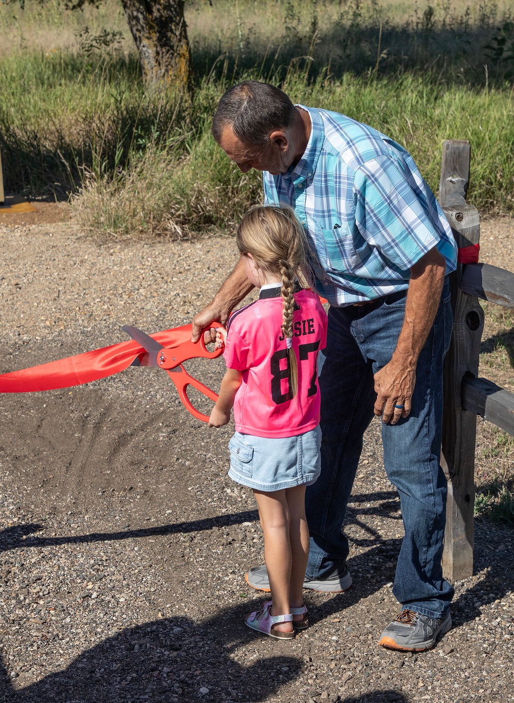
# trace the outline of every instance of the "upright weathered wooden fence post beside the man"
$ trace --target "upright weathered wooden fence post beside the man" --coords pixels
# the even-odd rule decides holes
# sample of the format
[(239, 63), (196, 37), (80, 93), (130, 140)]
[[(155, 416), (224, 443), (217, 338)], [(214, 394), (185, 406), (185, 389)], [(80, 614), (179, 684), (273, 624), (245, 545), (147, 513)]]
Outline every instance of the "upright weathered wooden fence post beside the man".
[[(466, 204), (469, 183), (468, 141), (446, 140), (442, 152), (439, 199), (459, 249), (478, 244), (480, 216)], [(444, 415), (441, 465), (448, 479), (447, 524), (442, 567), (452, 580), (473, 574), (473, 509), (475, 505), (475, 439), (477, 416), (463, 410), (461, 384), (478, 374), (484, 314), (477, 297), (462, 292), (462, 264), (451, 274), (454, 328), (444, 362)]]

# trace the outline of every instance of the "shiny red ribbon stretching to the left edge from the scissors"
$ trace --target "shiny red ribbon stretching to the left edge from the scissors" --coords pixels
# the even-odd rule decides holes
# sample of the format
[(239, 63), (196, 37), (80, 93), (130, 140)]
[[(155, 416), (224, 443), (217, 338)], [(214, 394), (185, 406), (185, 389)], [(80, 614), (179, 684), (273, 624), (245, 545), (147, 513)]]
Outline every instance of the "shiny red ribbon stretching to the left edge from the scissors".
[[(152, 337), (163, 347), (175, 347), (191, 339), (191, 325), (164, 330)], [(0, 393), (27, 393), (79, 386), (129, 368), (140, 354), (145, 354), (145, 349), (131, 340), (95, 349), (93, 352), (68, 356), (67, 359), (4, 373), (0, 375)]]

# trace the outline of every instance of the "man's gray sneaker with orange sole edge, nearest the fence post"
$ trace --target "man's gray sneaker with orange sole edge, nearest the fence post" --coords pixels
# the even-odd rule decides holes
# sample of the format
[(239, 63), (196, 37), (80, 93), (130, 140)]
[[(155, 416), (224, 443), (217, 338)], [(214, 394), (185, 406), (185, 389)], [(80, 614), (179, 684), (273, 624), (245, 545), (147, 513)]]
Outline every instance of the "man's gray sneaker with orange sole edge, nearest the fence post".
[(438, 639), (452, 627), (452, 617), (429, 617), (414, 610), (402, 610), (383, 631), (379, 645), (404, 652), (431, 650)]

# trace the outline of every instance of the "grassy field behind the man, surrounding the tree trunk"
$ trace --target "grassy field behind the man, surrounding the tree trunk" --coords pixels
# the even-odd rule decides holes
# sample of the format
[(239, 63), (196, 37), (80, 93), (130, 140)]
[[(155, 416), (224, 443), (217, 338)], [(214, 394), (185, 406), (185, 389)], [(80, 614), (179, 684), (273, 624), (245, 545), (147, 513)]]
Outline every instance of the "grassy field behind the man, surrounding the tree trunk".
[(231, 228), (261, 198), (260, 176), (228, 162), (210, 124), (226, 87), (252, 77), (385, 132), (407, 146), (434, 190), (444, 138), (469, 139), (470, 201), (482, 211), (514, 212), (508, 9), (486, 0), (384, 5), (190, 3), (192, 99), (145, 94), (114, 0), (86, 15), (59, 11), (57, 0), (44, 10), (35, 0), (25, 11), (2, 5), (6, 188), (71, 193), (84, 224), (117, 237)]

